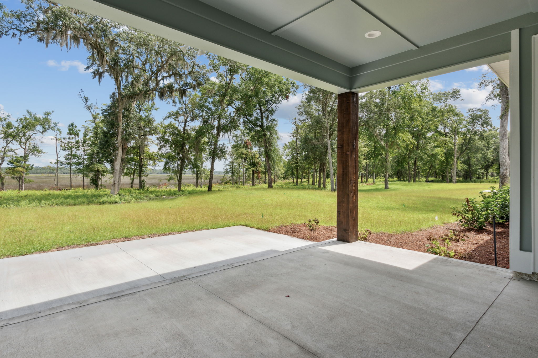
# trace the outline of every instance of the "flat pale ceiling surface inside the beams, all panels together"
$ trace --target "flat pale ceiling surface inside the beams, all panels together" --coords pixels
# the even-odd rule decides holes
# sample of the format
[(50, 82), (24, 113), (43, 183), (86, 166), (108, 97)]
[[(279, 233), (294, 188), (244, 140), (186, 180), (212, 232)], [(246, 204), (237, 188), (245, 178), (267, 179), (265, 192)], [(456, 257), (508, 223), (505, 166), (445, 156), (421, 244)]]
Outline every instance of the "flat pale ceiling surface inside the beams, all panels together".
[[(535, 0), (201, 1), (268, 32), (276, 31), (275, 35), (348, 67), (534, 12), (538, 8)], [(285, 25), (288, 26), (284, 30), (279, 30)], [(364, 34), (371, 30), (382, 34), (376, 39), (366, 39)]]

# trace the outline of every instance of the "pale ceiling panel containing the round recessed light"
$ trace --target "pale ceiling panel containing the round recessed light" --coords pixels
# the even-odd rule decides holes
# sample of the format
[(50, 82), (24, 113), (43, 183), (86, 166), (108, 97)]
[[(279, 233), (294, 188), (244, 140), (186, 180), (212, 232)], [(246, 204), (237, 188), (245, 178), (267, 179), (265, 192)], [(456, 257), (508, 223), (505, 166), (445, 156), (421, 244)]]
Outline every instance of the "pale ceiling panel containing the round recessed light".
[[(381, 35), (365, 38), (372, 30)], [(335, 0), (278, 35), (350, 67), (414, 48), (350, 0)]]

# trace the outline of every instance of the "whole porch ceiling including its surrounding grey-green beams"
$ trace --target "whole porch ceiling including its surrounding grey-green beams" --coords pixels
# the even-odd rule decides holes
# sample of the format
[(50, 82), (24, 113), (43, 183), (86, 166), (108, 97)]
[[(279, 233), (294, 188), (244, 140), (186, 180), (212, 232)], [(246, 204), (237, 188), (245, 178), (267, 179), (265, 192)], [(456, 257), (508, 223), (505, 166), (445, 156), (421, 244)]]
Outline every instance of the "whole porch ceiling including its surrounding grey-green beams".
[(511, 31), (538, 24), (538, 0), (61, 3), (339, 93), (507, 60)]

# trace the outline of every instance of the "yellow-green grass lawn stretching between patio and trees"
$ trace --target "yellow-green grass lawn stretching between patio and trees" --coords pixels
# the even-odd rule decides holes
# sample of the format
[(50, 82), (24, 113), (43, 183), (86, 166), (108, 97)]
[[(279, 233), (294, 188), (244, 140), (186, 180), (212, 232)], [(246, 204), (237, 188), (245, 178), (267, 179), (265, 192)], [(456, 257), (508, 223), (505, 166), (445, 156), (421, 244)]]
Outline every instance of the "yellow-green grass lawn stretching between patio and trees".
[[(455, 221), (450, 207), (484, 189), (423, 182), (391, 182), (388, 190), (383, 184), (360, 186), (359, 227), (401, 232)], [(313, 217), (321, 225), (336, 224), (336, 193), (281, 184), (111, 205), (0, 208), (0, 257), (151, 233), (232, 225), (269, 229)]]

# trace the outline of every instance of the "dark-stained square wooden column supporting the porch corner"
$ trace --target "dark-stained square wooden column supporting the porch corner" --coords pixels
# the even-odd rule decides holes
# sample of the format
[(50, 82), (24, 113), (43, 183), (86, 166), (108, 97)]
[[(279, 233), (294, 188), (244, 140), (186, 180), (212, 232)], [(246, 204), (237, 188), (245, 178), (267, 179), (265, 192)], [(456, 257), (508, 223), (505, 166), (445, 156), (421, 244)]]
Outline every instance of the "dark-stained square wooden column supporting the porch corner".
[(358, 236), (358, 94), (338, 94), (336, 238), (352, 243)]

